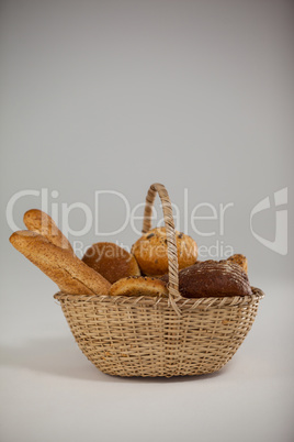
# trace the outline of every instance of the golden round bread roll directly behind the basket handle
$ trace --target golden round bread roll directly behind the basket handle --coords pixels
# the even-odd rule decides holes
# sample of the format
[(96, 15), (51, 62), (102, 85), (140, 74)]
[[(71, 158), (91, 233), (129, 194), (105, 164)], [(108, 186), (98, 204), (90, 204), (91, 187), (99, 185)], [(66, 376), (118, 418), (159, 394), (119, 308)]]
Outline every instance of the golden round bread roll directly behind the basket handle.
[[(179, 269), (197, 259), (197, 244), (184, 233), (176, 231)], [(145, 233), (132, 247), (139, 268), (147, 276), (162, 276), (168, 273), (168, 245), (166, 228), (156, 228)]]

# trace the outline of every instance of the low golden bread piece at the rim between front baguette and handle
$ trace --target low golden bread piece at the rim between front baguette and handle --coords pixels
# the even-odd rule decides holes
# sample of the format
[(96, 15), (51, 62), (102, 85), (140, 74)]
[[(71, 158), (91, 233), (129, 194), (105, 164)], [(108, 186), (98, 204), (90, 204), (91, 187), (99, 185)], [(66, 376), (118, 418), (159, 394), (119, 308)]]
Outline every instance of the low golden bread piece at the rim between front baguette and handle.
[(168, 296), (166, 284), (149, 276), (129, 276), (111, 286), (112, 296)]

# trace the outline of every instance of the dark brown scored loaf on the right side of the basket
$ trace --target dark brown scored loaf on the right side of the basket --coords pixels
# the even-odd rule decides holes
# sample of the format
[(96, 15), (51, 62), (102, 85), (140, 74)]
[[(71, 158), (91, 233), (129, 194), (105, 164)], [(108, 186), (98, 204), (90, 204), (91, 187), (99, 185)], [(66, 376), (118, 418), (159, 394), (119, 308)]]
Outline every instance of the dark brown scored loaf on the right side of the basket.
[[(168, 275), (161, 280), (168, 283)], [(179, 273), (179, 290), (184, 298), (252, 295), (244, 269), (227, 261), (204, 261)]]

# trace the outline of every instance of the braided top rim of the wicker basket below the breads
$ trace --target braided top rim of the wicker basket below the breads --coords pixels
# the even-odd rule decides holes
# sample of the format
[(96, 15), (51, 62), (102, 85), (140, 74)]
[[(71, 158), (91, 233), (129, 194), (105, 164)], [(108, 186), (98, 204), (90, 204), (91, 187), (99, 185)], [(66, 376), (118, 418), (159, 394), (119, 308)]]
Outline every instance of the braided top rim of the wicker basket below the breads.
[[(259, 301), (264, 298), (264, 292), (257, 287), (251, 287), (252, 295), (246, 296), (226, 296), (226, 297), (203, 297), (203, 298), (181, 298), (177, 301), (177, 306), (181, 308), (188, 308), (193, 310), (196, 308), (216, 308), (216, 307), (234, 307), (249, 305)], [(109, 305), (139, 305), (143, 307), (154, 306), (170, 306), (169, 298), (158, 296), (111, 296), (111, 295), (70, 295), (58, 291), (54, 295), (54, 298), (63, 302), (94, 302), (94, 303), (109, 303)]]

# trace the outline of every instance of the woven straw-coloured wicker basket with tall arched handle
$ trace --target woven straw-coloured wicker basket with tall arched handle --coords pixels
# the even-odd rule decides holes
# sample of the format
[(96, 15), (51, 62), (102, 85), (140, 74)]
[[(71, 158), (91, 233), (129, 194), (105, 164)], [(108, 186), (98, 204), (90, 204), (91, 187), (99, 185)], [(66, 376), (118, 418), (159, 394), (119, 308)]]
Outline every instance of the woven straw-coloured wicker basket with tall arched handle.
[(260, 289), (252, 296), (182, 298), (172, 209), (162, 185), (150, 187), (143, 232), (150, 230), (156, 194), (168, 240), (169, 298), (58, 292), (82, 353), (101, 372), (118, 376), (184, 376), (214, 373), (236, 353), (255, 321)]

